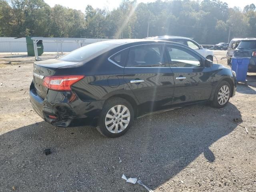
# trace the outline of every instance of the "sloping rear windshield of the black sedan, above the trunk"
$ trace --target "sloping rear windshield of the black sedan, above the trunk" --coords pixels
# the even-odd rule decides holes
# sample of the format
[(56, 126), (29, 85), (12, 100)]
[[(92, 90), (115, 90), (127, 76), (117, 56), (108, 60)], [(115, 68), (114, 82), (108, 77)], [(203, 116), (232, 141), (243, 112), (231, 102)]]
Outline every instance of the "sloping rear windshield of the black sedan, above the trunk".
[(95, 56), (98, 56), (101, 53), (109, 50), (111, 46), (113, 45), (109, 43), (104, 43), (104, 42), (92, 43), (92, 44), (83, 46), (79, 49), (76, 49), (58, 58), (58, 60), (69, 61), (69, 62), (80, 62), (80, 61), (88, 60), (90, 58), (94, 58)]

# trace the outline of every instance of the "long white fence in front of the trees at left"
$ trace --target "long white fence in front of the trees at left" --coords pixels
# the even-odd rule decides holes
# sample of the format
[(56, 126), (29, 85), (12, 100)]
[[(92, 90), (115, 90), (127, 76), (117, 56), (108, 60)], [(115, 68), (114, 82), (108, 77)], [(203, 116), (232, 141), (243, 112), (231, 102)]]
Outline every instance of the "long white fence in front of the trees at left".
[[(101, 38), (87, 38), (82, 46), (112, 39)], [(57, 52), (57, 44), (52, 41), (43, 41), (44, 52)], [(70, 52), (78, 48), (78, 44), (74, 41), (65, 40), (62, 43), (63, 52)], [(58, 44), (58, 50), (60, 51), (60, 43)], [(15, 39), (13, 37), (0, 37), (0, 52), (27, 52), (26, 38)]]

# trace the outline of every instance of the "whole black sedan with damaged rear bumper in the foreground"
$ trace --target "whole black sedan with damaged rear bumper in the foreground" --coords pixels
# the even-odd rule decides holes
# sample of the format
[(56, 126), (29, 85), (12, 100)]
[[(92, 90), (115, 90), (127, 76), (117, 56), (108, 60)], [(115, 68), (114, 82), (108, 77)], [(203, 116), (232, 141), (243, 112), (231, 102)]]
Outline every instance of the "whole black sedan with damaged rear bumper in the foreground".
[(198, 102), (221, 108), (235, 92), (234, 72), (188, 46), (131, 39), (35, 62), (30, 101), (55, 126), (82, 120), (114, 138), (126, 133), (134, 118)]

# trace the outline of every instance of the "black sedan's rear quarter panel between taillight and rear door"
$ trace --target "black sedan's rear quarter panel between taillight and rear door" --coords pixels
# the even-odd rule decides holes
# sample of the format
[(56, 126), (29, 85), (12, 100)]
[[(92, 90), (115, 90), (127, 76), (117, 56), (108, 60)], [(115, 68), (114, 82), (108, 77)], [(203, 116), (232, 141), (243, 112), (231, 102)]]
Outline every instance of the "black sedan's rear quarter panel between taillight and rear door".
[[(81, 68), (86, 77), (72, 86), (81, 100), (106, 100), (117, 94), (126, 94), (134, 98), (124, 81), (124, 68), (108, 61), (108, 57), (114, 53), (115, 50), (102, 54)], [(137, 103), (136, 98), (134, 100)]]

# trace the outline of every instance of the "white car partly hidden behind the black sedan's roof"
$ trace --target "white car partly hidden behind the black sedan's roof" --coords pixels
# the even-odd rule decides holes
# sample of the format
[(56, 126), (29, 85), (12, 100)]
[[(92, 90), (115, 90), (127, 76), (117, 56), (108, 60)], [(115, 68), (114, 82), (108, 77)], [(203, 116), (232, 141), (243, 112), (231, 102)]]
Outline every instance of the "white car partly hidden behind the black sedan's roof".
[(211, 50), (203, 48), (200, 44), (198, 44), (194, 40), (187, 38), (187, 37), (165, 35), (165, 36), (147, 37), (145, 39), (166, 40), (166, 41), (172, 41), (172, 42), (184, 44), (184, 45), (194, 49), (196, 52), (198, 52), (199, 54), (204, 56), (206, 59), (213, 61), (214, 54)]

